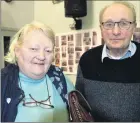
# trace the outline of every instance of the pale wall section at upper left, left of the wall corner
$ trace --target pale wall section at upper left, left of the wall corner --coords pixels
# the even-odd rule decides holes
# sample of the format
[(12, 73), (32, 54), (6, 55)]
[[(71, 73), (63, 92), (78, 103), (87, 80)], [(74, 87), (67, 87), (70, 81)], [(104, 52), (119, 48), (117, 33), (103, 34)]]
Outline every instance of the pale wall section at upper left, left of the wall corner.
[(21, 28), (34, 20), (34, 1), (1, 2), (2, 27)]

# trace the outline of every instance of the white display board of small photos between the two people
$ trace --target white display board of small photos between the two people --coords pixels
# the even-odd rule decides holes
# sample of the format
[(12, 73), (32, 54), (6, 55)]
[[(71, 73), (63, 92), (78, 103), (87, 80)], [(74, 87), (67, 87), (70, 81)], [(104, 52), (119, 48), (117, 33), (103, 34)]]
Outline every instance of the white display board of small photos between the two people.
[(54, 64), (65, 74), (76, 74), (82, 54), (101, 44), (100, 32), (95, 29), (56, 34)]

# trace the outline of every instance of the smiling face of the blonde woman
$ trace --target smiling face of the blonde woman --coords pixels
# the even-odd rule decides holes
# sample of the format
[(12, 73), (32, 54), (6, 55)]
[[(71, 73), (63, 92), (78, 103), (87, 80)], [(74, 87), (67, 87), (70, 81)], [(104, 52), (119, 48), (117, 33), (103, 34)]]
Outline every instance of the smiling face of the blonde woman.
[(33, 79), (44, 77), (53, 61), (53, 47), (52, 41), (43, 32), (29, 32), (23, 45), (15, 49), (20, 71)]

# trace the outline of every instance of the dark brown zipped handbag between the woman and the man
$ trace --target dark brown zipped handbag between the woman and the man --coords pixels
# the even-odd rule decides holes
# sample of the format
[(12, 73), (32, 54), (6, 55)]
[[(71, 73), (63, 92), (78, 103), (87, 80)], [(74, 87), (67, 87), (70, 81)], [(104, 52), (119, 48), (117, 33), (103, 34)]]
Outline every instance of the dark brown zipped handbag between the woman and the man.
[(91, 108), (84, 96), (77, 90), (68, 95), (71, 122), (93, 122)]

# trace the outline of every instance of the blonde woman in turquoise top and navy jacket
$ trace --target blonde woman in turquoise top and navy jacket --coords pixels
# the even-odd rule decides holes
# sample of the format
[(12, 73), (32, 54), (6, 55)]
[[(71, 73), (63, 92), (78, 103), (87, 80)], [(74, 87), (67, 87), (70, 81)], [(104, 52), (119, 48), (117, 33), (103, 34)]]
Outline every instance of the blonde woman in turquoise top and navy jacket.
[(1, 71), (3, 122), (65, 122), (67, 94), (74, 86), (52, 65), (55, 36), (46, 25), (33, 22), (13, 37)]

